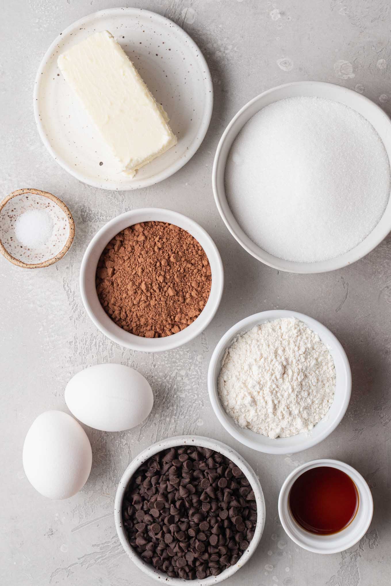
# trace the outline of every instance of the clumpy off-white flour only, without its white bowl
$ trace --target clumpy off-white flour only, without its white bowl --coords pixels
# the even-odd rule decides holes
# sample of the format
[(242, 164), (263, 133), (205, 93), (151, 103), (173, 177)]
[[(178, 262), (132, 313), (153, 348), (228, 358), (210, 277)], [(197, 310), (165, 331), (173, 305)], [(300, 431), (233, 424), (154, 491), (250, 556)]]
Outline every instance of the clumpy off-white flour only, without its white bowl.
[(310, 431), (331, 407), (334, 361), (305, 323), (276, 319), (255, 326), (226, 350), (217, 389), (240, 427), (289, 437)]

